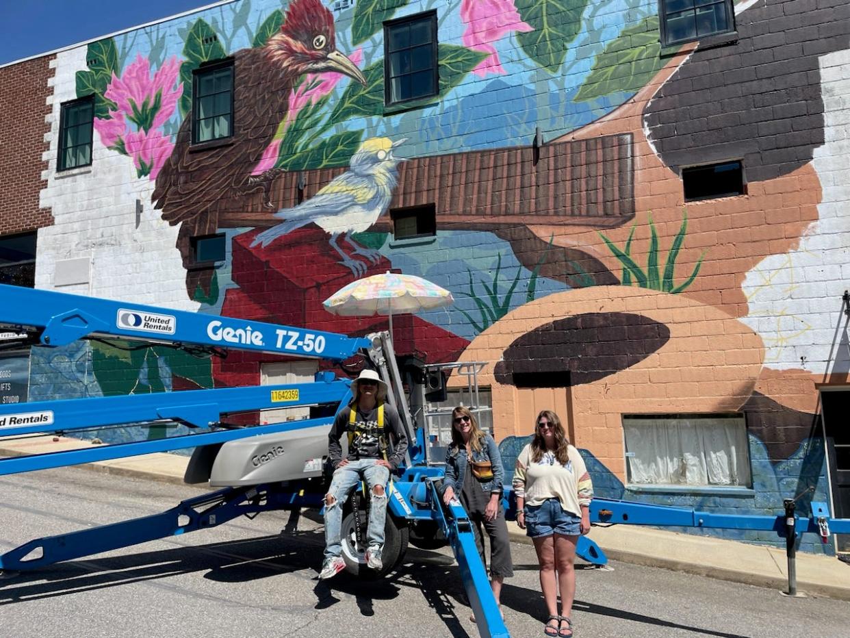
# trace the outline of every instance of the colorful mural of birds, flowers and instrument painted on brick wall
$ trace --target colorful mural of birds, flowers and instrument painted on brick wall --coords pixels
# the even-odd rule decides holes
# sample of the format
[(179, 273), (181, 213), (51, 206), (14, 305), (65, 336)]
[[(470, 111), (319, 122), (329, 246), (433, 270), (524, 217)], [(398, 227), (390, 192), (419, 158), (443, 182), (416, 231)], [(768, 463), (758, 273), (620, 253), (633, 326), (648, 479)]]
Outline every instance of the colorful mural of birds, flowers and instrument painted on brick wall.
[[(321, 302), (388, 269), (424, 276), (456, 304), (399, 317), (397, 349), (488, 362), (496, 436), (569, 392), (577, 442), (621, 480), (623, 414), (743, 411), (756, 491), (795, 468), (823, 500), (813, 383), (850, 369), (850, 16), (808, 4), (736, 2), (734, 45), (663, 50), (655, 0), (244, 0), (60, 54), (56, 86), (95, 94), (94, 166), (125, 162), (147, 241), (183, 265), (159, 275), (180, 271), (174, 305), (362, 334), (386, 320)], [(388, 107), (382, 24), (432, 9), (439, 96)], [(234, 136), (192, 148), (193, 71), (224, 58)], [(730, 158), (745, 195), (684, 201), (682, 167)], [(62, 225), (65, 199), (45, 200)], [(388, 209), (411, 207), (433, 207), (433, 236), (394, 237)], [(193, 270), (190, 238), (218, 231), (224, 265)], [(257, 383), (269, 361), (67, 356), (105, 392), (116, 366), (113, 389), (137, 392)]]

